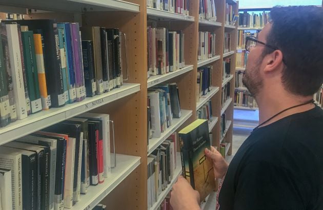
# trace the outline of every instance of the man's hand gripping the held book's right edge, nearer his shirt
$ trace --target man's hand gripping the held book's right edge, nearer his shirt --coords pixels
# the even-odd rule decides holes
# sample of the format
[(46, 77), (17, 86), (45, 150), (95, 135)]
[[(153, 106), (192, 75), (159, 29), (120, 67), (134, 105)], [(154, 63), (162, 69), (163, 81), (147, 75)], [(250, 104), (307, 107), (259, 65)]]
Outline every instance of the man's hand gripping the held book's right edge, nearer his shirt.
[(206, 148), (204, 152), (208, 159), (213, 162), (214, 177), (222, 179), (227, 172), (229, 164), (213, 146), (211, 146), (211, 150)]

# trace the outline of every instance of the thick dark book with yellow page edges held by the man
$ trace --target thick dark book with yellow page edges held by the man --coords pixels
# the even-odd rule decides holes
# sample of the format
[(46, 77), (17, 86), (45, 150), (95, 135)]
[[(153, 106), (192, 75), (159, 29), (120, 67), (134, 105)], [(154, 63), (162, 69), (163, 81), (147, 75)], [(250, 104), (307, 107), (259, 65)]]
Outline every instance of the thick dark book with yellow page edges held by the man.
[(183, 176), (204, 200), (214, 189), (213, 163), (206, 158), (210, 149), (208, 121), (197, 119), (178, 133)]

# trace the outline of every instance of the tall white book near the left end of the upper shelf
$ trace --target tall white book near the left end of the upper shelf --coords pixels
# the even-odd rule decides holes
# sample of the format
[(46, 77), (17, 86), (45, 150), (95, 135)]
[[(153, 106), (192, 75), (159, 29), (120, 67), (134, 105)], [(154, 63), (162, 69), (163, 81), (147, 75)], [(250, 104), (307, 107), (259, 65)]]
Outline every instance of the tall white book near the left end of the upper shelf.
[(24, 119), (27, 117), (27, 103), (17, 26), (17, 24), (6, 24), (6, 30), (17, 119)]

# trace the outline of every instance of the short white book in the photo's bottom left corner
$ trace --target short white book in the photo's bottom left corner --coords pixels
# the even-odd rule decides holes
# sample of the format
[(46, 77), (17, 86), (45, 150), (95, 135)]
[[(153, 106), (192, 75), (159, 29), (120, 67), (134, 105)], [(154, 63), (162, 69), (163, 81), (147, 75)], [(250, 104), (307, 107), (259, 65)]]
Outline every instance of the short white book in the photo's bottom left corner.
[(0, 209), (12, 208), (11, 170), (0, 168)]

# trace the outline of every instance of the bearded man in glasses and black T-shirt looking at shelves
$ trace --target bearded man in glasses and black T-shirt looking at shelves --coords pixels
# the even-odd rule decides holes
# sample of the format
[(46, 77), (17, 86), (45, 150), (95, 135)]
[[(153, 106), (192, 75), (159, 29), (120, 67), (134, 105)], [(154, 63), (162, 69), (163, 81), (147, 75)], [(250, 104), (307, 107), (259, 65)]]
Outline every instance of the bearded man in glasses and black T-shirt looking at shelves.
[[(259, 127), (230, 165), (205, 153), (221, 178), (216, 209), (323, 209), (323, 111), (311, 99), (323, 82), (323, 10), (274, 7), (250, 51), (243, 78), (259, 107)], [(199, 209), (180, 177), (174, 210)]]

